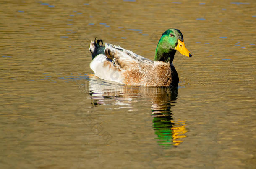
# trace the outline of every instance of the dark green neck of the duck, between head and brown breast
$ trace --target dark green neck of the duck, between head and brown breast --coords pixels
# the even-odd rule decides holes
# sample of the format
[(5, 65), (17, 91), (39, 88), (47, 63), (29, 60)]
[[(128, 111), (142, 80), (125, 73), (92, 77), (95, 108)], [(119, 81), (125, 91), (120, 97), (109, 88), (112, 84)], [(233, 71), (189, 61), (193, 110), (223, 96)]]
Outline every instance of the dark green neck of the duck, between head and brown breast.
[(165, 63), (172, 63), (176, 50), (165, 49), (157, 45), (155, 53), (155, 61), (163, 61)]

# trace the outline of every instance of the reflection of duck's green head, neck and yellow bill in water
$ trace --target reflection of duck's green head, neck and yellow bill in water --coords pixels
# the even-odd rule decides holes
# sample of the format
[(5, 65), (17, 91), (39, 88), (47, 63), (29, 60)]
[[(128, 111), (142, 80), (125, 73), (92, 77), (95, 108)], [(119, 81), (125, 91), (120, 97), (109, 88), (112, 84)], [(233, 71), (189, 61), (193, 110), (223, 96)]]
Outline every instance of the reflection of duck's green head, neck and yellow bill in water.
[(175, 121), (172, 118), (171, 103), (175, 103), (178, 96), (178, 88), (168, 89), (152, 98), (153, 129), (157, 135), (157, 143), (168, 149), (178, 146), (182, 138), (186, 137), (185, 121)]

